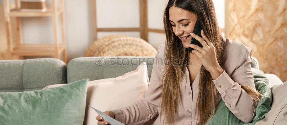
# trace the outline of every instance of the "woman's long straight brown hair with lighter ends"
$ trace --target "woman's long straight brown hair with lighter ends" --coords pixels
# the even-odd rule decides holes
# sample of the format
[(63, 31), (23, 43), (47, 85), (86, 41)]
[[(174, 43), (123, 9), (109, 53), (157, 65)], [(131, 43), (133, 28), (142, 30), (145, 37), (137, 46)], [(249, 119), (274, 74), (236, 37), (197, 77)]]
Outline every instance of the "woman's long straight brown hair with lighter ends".
[[(181, 106), (181, 80), (184, 77), (184, 70), (187, 66), (186, 59), (188, 58), (189, 54), (187, 48), (183, 47), (179, 37), (177, 37), (172, 31), (172, 25), (169, 22), (168, 13), (169, 8), (172, 6), (193, 12), (197, 15), (197, 19), (201, 22), (205, 35), (210, 39), (211, 43), (215, 47), (217, 61), (221, 67), (223, 67), (224, 64), (225, 47), (225, 39), (220, 34), (212, 0), (168, 1), (163, 18), (164, 31), (166, 34), (164, 57), (165, 59), (171, 59), (172, 57), (184, 58), (183, 62), (176, 61), (173, 62), (172, 65), (165, 66), (165, 72), (162, 80), (163, 84), (160, 121), (163, 117), (164, 121), (168, 125), (174, 124), (174, 121), (176, 122), (178, 102)], [(196, 104), (196, 112), (198, 111), (199, 123), (206, 124), (212, 118), (215, 112), (217, 89), (212, 82), (210, 72), (208, 72), (203, 66), (200, 68), (199, 77), (199, 93)], [(261, 94), (249, 86), (241, 86), (257, 104)]]

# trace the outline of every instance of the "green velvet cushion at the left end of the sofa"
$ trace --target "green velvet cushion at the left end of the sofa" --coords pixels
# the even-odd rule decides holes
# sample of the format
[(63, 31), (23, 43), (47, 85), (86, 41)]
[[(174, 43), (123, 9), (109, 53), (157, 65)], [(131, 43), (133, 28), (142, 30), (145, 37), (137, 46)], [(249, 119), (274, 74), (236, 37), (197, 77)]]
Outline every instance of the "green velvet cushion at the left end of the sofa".
[(0, 124), (83, 124), (87, 87), (84, 79), (44, 90), (0, 93)]

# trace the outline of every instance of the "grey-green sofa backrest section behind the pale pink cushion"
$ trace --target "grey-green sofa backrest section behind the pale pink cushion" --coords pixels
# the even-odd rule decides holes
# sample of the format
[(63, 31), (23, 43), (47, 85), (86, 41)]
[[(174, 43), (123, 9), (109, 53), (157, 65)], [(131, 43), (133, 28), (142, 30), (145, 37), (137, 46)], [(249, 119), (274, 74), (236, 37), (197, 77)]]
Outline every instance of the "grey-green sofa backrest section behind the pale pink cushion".
[(148, 77), (152, 74), (154, 57), (78, 57), (69, 61), (67, 66), (67, 82), (89, 78), (89, 81), (104, 78), (115, 78), (133, 71), (141, 64), (146, 62)]

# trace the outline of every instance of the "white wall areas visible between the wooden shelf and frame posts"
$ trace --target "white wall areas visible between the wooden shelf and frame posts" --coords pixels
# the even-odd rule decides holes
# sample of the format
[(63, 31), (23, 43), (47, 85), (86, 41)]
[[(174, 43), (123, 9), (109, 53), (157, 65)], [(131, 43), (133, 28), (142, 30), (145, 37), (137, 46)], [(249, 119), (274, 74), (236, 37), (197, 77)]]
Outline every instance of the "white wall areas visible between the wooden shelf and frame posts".
[[(11, 0), (11, 2), (13, 2)], [(148, 27), (163, 29), (162, 17), (168, 0), (148, 0)], [(3, 0), (0, 0), (3, 3)], [(97, 26), (139, 27), (138, 0), (96, 0)], [(47, 0), (51, 6), (51, 0)], [(65, 31), (68, 61), (82, 57), (93, 42), (91, 0), (64, 0)], [(224, 28), (224, 0), (214, 0), (219, 25)], [(59, 25), (60, 27), (60, 25)], [(53, 21), (51, 17), (22, 17), (23, 43), (53, 43)], [(61, 37), (59, 32), (59, 37)], [(110, 34), (126, 34), (139, 37), (139, 32), (98, 32), (98, 38)], [(162, 33), (149, 32), (149, 42), (154, 47), (165, 42)], [(61, 41), (61, 38), (59, 39)], [(35, 58), (35, 57), (26, 57)]]

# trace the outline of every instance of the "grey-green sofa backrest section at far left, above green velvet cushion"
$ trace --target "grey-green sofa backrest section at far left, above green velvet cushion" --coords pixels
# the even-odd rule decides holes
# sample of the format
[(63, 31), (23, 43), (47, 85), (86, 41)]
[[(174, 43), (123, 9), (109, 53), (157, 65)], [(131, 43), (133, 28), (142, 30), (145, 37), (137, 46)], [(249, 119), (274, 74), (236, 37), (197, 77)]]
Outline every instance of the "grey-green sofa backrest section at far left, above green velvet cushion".
[(0, 60), (0, 92), (40, 90), (67, 83), (67, 67), (60, 59)]

